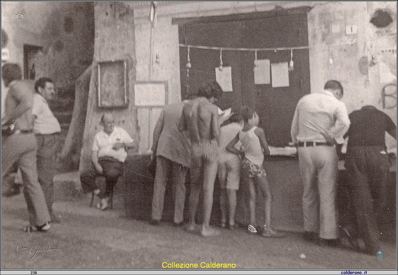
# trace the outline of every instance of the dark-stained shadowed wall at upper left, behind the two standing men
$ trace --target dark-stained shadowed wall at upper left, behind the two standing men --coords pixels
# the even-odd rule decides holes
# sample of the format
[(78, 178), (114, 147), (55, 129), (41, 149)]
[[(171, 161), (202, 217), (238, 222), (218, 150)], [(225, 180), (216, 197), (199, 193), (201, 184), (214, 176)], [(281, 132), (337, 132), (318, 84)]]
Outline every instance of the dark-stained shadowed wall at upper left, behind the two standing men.
[[(23, 70), (23, 45), (43, 47), (36, 57), (36, 79), (50, 77), (61, 96), (73, 97), (76, 79), (92, 62), (92, 3), (2, 2), (1, 5), (2, 29), (9, 38), (8, 62), (19, 64)], [(22, 19), (17, 19), (17, 12), (23, 13)], [(68, 31), (66, 20), (70, 22)]]

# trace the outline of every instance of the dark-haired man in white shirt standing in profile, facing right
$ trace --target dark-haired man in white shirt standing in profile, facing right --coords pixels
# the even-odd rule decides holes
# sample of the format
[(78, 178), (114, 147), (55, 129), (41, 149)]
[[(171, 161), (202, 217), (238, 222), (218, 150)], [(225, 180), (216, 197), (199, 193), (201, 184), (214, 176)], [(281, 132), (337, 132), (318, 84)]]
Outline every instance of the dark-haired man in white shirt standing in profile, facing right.
[(54, 83), (50, 78), (42, 77), (35, 83), (33, 96), (33, 132), (37, 139), (37, 173), (43, 189), (51, 222), (60, 222), (61, 217), (53, 213), (54, 176), (58, 136), (61, 127), (53, 115), (48, 102), (55, 94)]

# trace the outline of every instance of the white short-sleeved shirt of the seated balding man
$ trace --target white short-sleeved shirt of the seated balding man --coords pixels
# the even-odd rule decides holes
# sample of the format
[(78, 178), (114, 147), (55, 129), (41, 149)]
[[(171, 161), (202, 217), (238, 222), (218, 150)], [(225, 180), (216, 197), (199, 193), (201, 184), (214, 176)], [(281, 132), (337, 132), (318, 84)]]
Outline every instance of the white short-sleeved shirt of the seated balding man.
[(107, 135), (103, 130), (98, 132), (94, 138), (93, 151), (98, 151), (98, 158), (103, 156), (111, 156), (117, 160), (124, 162), (127, 157), (126, 150), (122, 147), (119, 150), (112, 149), (116, 142), (130, 143), (133, 139), (120, 127), (114, 127), (111, 135)]

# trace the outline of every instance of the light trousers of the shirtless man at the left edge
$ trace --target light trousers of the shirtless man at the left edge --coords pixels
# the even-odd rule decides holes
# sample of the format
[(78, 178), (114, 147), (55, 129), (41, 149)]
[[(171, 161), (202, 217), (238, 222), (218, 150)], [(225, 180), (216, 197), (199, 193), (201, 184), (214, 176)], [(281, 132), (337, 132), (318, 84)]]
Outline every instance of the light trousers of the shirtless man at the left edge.
[(33, 133), (14, 134), (2, 138), (2, 177), (18, 162), (23, 182), (23, 195), (31, 225), (42, 226), (50, 221), (43, 190), (37, 179), (36, 137)]

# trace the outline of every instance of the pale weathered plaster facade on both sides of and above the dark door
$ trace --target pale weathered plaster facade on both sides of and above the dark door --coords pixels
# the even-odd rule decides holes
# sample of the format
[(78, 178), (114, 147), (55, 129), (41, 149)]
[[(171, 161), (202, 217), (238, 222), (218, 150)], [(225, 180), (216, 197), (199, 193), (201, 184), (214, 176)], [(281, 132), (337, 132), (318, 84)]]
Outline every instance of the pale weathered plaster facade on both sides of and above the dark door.
[[(96, 61), (115, 59), (115, 55), (130, 55), (135, 74), (130, 72), (128, 111), (113, 111), (120, 114), (120, 121), (131, 121), (131, 135), (139, 141), (139, 152), (146, 153), (151, 146), (152, 131), (161, 108), (135, 107), (133, 104), (133, 84), (137, 82), (168, 82), (168, 102), (181, 100), (179, 80), (178, 25), (172, 24), (172, 18), (190, 18), (202, 16), (220, 16), (248, 12), (263, 12), (281, 8), (311, 6), (308, 14), (310, 47), (311, 92), (322, 89), (328, 79), (338, 79), (344, 86), (344, 101), (348, 111), (359, 109), (365, 104), (375, 104), (382, 109), (379, 66), (369, 67), (368, 74), (361, 74), (358, 63), (361, 57), (371, 60), (375, 37), (384, 37), (391, 47), (396, 49), (396, 27), (389, 32), (375, 30), (369, 23), (376, 6), (391, 6), (392, 2), (169, 2), (158, 3), (157, 27), (152, 28), (149, 20), (150, 4), (146, 2), (123, 2), (110, 8), (113, 2), (100, 2), (96, 13)], [(396, 5), (396, 4), (395, 4)], [(105, 6), (107, 8), (105, 8)], [(105, 10), (108, 15), (105, 16)], [(134, 16), (132, 12), (134, 11)], [(122, 13), (122, 16), (120, 14)], [(113, 17), (112, 17), (113, 16)], [(115, 19), (116, 18), (116, 19)], [(396, 24), (396, 15), (394, 17)], [(346, 25), (356, 25), (356, 34), (346, 34)], [(132, 32), (132, 33), (130, 33)], [(109, 36), (108, 36), (109, 35)], [(100, 39), (100, 37), (103, 37)], [(105, 39), (108, 37), (108, 39)], [(134, 39), (133, 39), (134, 37)], [(382, 45), (382, 43), (379, 43)], [(379, 45), (378, 44), (378, 45)], [(127, 51), (127, 48), (130, 51)], [(322, 51), (323, 50), (323, 51)], [(115, 51), (115, 52), (113, 52)], [(155, 62), (156, 54), (159, 62)], [(115, 56), (115, 57), (113, 57)], [(396, 66), (396, 52), (392, 55)], [(332, 64), (330, 64), (332, 60)], [(392, 64), (394, 65), (394, 64)], [(390, 66), (391, 67), (391, 66)], [(392, 74), (396, 72), (392, 71)], [(96, 76), (92, 76), (92, 85)], [(395, 80), (396, 81), (396, 80)], [(396, 82), (395, 82), (396, 83)], [(93, 90), (93, 91), (91, 91)], [(90, 89), (90, 100), (96, 100), (94, 86)], [(96, 102), (92, 101), (92, 104)], [(91, 105), (95, 110), (96, 104)], [(90, 109), (90, 105), (89, 105)], [(383, 109), (396, 122), (396, 107)], [(92, 111), (86, 123), (87, 133), (96, 131), (100, 111)], [(122, 115), (123, 114), (123, 115)], [(127, 119), (127, 120), (126, 120)], [(134, 125), (134, 123), (136, 125)], [(91, 128), (90, 128), (91, 127)], [(88, 142), (85, 139), (85, 142)], [(395, 146), (390, 142), (389, 147)]]

